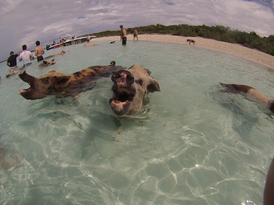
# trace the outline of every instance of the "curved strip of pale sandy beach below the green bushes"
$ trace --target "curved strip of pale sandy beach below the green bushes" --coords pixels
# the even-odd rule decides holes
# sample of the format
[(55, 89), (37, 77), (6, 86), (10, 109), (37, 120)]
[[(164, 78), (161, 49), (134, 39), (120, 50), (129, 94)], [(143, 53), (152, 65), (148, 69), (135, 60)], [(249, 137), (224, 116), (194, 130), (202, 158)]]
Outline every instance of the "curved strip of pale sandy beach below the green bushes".
[[(196, 41), (195, 45), (193, 45), (193, 43), (190, 43), (189, 46), (202, 46), (202, 47), (215, 49), (223, 52), (229, 52), (231, 54), (241, 56), (248, 60), (252, 60), (257, 63), (262, 63), (265, 66), (274, 70), (274, 56), (263, 53), (255, 49), (247, 48), (240, 44), (221, 42), (221, 41), (206, 39), (202, 37), (184, 37), (184, 36), (172, 36), (172, 35), (163, 35), (163, 34), (138, 35), (138, 40), (167, 41), (167, 42), (174, 42), (174, 43), (189, 44), (189, 42), (186, 41), (187, 39), (193, 39)], [(115, 41), (115, 43), (121, 43), (120, 36), (95, 38), (95, 39), (91, 39), (91, 42), (98, 41), (98, 40), (109, 40), (110, 42)], [(127, 42), (132, 40), (133, 40), (133, 34), (127, 35)]]

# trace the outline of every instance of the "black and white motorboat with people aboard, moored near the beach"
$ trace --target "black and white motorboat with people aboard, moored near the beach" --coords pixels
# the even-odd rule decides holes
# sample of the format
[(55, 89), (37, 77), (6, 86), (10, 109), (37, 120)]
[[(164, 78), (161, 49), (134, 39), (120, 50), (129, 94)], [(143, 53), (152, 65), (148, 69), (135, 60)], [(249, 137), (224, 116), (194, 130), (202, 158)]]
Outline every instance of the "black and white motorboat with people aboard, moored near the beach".
[[(61, 31), (61, 32), (63, 32), (63, 31)], [(66, 34), (66, 33), (64, 33), (64, 34)], [(84, 42), (87, 42), (87, 36), (88, 35), (83, 35), (83, 36), (74, 38), (74, 37), (71, 37), (70, 34), (66, 34), (65, 36), (50, 40), (50, 43), (47, 46), (45, 46), (45, 49), (50, 50), (50, 49), (59, 48), (62, 46), (70, 46), (70, 45), (75, 45), (75, 44), (79, 44), (79, 43), (84, 43)], [(95, 38), (95, 37), (96, 36), (90, 36), (90, 39)], [(57, 40), (57, 43), (56, 43), (56, 40)]]

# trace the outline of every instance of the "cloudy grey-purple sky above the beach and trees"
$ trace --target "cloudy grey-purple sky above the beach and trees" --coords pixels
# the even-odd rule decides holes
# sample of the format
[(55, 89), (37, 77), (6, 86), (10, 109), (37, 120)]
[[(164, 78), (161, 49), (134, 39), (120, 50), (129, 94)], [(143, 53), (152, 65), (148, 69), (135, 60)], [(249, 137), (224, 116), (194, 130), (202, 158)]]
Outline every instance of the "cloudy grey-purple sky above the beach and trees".
[(22, 45), (150, 24), (224, 25), (274, 35), (274, 0), (0, 0), (0, 61)]

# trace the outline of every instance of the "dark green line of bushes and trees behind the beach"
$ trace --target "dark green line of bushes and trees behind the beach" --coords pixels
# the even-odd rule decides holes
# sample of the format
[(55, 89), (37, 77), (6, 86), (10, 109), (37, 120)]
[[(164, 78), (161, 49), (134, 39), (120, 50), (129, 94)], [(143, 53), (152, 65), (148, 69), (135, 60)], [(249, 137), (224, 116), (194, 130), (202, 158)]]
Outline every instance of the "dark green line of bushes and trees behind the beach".
[[(230, 27), (225, 27), (222, 25), (207, 26), (198, 25), (192, 26), (187, 24), (179, 25), (169, 25), (165, 26), (162, 24), (157, 25), (147, 25), (134, 28), (127, 28), (127, 33), (132, 34), (137, 28), (138, 34), (172, 34), (174, 36), (189, 36), (189, 37), (204, 37), (208, 39), (215, 39), (218, 41), (238, 43), (248, 48), (257, 49), (264, 53), (274, 56), (274, 35), (269, 37), (261, 37), (257, 35), (254, 31), (246, 32), (231, 30)], [(119, 36), (121, 33), (118, 31), (102, 31), (99, 33), (92, 33), (96, 37), (106, 37), (106, 36)]]

